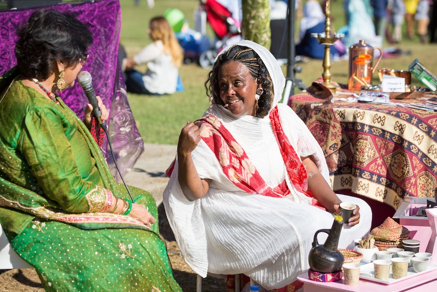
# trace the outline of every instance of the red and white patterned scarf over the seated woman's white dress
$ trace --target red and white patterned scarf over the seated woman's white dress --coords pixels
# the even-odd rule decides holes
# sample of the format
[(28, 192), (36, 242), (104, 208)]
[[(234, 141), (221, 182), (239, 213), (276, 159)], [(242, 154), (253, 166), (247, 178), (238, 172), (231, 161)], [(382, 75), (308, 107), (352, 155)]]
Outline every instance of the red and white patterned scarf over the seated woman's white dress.
[[(277, 106), (270, 111), (269, 117), (290, 180), (296, 190), (312, 198), (313, 196), (308, 190), (305, 166), (283, 132)], [(280, 198), (290, 193), (285, 180), (274, 188), (266, 184), (260, 173), (252, 165), (244, 149), (241, 148), (217, 117), (212, 114), (206, 115), (195, 123), (200, 128), (202, 140), (215, 154), (223, 172), (233, 184), (248, 193), (259, 193), (268, 197)], [(167, 170), (168, 176), (171, 175), (173, 167), (174, 161)], [(312, 199), (312, 205), (318, 205), (317, 200), (314, 198)]]

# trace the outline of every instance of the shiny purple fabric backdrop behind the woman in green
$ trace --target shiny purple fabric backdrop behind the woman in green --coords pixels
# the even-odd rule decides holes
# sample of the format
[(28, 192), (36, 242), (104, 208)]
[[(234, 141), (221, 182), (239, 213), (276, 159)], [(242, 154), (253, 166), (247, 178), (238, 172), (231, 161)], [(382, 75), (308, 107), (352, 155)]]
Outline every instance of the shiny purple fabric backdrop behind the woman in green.
[[(121, 28), (120, 3), (118, 0), (100, 0), (77, 5), (58, 4), (48, 8), (60, 12), (75, 12), (78, 19), (91, 30), (94, 42), (88, 49), (89, 58), (83, 70), (90, 72), (96, 95), (102, 98), (104, 105), (110, 110), (108, 135), (117, 164), (125, 174), (142, 154), (144, 146), (129, 106), (126, 85), (117, 58)], [(37, 8), (0, 11), (0, 75), (15, 66), (16, 28), (35, 9)], [(61, 98), (83, 119), (88, 100), (77, 82), (74, 87), (64, 90)], [(114, 176), (119, 180), (120, 176), (108, 150), (105, 142), (102, 152)]]

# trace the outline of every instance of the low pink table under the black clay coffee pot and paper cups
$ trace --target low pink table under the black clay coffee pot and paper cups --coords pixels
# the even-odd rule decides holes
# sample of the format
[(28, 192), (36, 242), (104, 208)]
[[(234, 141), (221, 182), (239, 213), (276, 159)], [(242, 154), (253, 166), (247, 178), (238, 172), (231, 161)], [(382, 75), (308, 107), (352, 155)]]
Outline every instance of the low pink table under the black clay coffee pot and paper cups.
[(337, 282), (316, 282), (308, 278), (308, 273), (298, 276), (304, 283), (304, 292), (333, 292), (333, 291), (352, 291), (352, 292), (403, 292), (403, 291), (435, 291), (437, 285), (437, 270), (407, 278), (389, 285), (380, 284), (368, 280), (359, 280), (356, 286), (345, 285), (343, 279)]

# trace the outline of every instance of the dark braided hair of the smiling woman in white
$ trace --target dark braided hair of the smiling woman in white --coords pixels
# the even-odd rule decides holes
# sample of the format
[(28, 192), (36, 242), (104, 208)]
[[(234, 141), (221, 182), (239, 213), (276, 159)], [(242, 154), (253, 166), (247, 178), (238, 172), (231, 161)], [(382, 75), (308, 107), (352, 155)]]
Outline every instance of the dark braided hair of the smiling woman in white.
[(233, 45), (227, 52), (219, 55), (215, 60), (214, 66), (205, 81), (206, 94), (210, 97), (210, 102), (213, 100), (217, 105), (225, 105), (220, 98), (220, 87), (218, 86), (217, 78), (218, 71), (229, 61), (243, 63), (254, 80), (261, 80), (261, 86), (264, 91), (258, 100), (256, 116), (259, 118), (265, 117), (269, 113), (272, 105), (273, 83), (267, 71), (267, 67), (260, 56), (253, 49), (245, 46)]

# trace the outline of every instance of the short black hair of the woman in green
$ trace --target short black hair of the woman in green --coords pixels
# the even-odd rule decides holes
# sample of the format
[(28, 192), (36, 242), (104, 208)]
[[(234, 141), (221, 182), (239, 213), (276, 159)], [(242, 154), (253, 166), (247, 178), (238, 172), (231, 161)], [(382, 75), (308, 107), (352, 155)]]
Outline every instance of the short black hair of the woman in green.
[(17, 30), (15, 57), (20, 74), (47, 79), (56, 61), (74, 66), (92, 44), (91, 31), (72, 13), (50, 9), (34, 11)]

